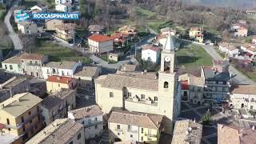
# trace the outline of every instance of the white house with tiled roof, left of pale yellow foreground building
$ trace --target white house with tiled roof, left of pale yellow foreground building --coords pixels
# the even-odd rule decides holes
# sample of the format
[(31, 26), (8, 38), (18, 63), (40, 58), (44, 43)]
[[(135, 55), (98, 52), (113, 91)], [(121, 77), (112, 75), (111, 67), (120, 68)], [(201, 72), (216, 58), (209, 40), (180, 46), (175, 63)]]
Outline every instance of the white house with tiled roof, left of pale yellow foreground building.
[(74, 119), (84, 126), (85, 138), (96, 138), (103, 132), (103, 116), (99, 106), (87, 106), (77, 110), (70, 110), (68, 118)]

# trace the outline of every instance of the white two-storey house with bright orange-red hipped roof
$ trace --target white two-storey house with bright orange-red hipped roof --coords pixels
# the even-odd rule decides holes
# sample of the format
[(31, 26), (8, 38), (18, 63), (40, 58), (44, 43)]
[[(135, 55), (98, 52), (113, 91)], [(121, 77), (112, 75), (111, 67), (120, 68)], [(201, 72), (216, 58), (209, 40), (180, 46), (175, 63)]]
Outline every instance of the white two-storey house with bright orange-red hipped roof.
[(113, 38), (102, 34), (94, 34), (88, 38), (90, 52), (106, 53), (113, 50)]

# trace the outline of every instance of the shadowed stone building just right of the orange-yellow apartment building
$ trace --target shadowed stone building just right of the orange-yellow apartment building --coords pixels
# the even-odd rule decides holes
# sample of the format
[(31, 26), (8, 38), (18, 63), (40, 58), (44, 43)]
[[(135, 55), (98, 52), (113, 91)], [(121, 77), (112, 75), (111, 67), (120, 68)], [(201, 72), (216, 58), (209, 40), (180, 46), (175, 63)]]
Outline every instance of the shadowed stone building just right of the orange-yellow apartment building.
[(58, 93), (44, 98), (40, 106), (44, 125), (48, 126), (55, 119), (65, 118), (67, 111), (76, 107), (76, 94), (76, 90), (62, 89)]

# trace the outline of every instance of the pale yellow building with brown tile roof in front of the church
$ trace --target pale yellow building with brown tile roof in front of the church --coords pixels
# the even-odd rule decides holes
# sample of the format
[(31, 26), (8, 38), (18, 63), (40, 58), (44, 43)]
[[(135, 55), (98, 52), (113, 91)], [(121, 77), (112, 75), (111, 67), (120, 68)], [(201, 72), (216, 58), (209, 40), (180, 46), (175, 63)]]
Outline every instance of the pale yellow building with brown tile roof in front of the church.
[(113, 111), (108, 120), (110, 141), (157, 144), (162, 132), (162, 115)]

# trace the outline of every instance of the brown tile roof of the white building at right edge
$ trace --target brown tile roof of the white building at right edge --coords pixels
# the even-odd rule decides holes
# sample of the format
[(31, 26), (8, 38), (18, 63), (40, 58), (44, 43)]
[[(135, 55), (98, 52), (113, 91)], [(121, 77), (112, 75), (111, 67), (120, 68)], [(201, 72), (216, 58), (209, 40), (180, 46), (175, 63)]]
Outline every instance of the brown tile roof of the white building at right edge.
[(232, 94), (256, 94), (256, 85), (238, 85), (232, 86)]

